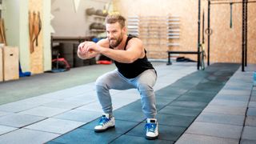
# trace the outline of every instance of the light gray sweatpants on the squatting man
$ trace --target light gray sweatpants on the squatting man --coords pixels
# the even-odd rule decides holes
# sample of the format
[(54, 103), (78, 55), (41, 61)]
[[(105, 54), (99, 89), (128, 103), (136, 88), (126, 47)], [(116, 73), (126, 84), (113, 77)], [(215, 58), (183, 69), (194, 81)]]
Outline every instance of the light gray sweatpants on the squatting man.
[(125, 78), (118, 70), (110, 71), (100, 76), (96, 81), (98, 100), (106, 114), (113, 114), (110, 89), (128, 90), (137, 89), (141, 95), (142, 111), (146, 118), (155, 118), (157, 114), (153, 86), (157, 74), (152, 69), (144, 71), (136, 78)]

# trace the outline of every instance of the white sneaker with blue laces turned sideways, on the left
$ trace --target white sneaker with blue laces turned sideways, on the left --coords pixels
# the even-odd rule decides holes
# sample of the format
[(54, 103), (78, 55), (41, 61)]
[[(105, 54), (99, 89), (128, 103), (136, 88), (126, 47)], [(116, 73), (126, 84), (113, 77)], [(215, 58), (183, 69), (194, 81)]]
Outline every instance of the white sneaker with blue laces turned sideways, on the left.
[(110, 118), (110, 114), (102, 114), (102, 118), (99, 119), (98, 125), (94, 127), (94, 131), (103, 132), (112, 127), (114, 127), (114, 117)]

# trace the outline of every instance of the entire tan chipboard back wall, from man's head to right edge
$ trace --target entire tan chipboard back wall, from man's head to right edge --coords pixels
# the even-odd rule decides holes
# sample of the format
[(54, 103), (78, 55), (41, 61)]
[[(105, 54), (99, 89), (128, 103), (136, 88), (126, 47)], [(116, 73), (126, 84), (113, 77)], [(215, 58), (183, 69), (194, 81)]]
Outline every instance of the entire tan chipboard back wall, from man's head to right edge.
[[(248, 63), (256, 63), (256, 34), (254, 25), (256, 3), (248, 4)], [(181, 21), (180, 46), (169, 50), (197, 50), (198, 42), (198, 1), (195, 0), (113, 0), (113, 8), (126, 18), (128, 16), (178, 16)], [(205, 10), (205, 28), (207, 26), (207, 1), (202, 0), (201, 10)], [(210, 26), (213, 34), (210, 38), (210, 62), (241, 62), (242, 53), (242, 4), (233, 6), (233, 28), (230, 29), (230, 5), (211, 6)], [(201, 12), (202, 14), (202, 12)], [(202, 19), (202, 18), (201, 18)], [(201, 28), (202, 30), (202, 28)], [(202, 32), (201, 32), (202, 38)], [(205, 34), (207, 49), (207, 35)], [(155, 46), (158, 50), (159, 47)], [(150, 49), (151, 50), (151, 49)], [(162, 48), (159, 59), (166, 59), (166, 48)], [(182, 56), (182, 54), (179, 54)], [(186, 54), (186, 58), (197, 60), (196, 55)]]

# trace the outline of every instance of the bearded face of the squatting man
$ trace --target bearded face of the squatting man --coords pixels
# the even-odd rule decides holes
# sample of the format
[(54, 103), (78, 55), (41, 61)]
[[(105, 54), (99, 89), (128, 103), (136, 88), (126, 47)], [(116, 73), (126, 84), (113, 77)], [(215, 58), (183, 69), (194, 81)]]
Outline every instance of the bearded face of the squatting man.
[(117, 47), (122, 42), (124, 28), (118, 22), (106, 24), (106, 35), (111, 47)]

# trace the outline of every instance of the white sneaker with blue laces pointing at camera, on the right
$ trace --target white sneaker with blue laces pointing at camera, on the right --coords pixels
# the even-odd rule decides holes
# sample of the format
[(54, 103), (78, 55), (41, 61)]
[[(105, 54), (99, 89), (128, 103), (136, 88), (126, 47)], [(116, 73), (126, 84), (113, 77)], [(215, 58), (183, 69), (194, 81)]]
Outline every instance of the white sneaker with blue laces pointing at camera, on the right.
[(146, 138), (156, 139), (158, 138), (158, 122), (155, 118), (146, 118)]

